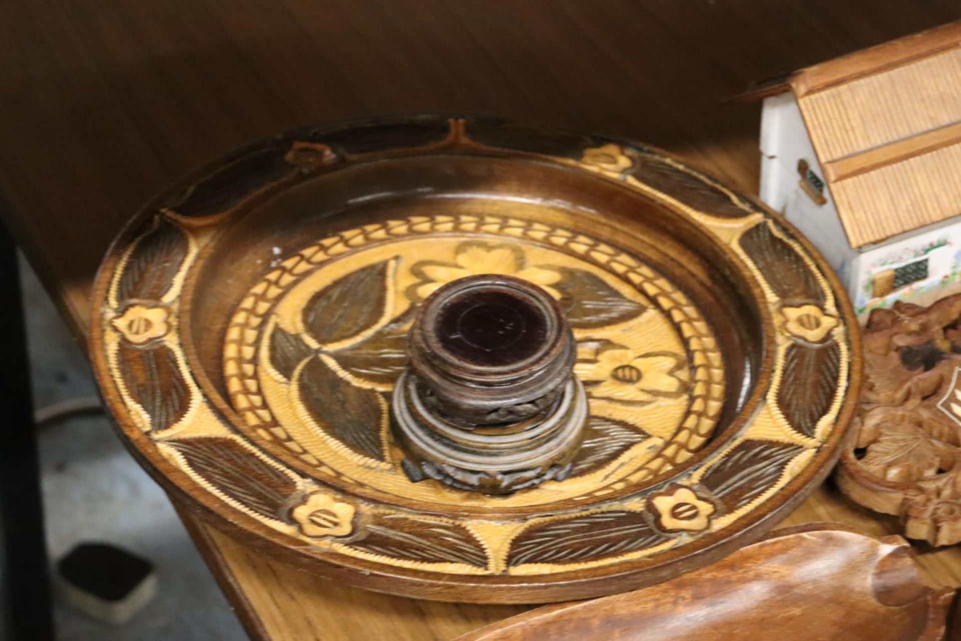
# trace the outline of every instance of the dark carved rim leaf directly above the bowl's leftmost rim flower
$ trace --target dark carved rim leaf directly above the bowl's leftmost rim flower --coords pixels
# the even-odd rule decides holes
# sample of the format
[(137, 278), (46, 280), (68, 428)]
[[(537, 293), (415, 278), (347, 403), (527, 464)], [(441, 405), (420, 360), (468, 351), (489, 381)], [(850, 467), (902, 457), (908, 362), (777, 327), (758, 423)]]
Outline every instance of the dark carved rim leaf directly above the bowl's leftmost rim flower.
[(173, 284), (189, 245), (184, 231), (167, 218), (156, 216), (153, 228), (136, 241), (117, 284), (117, 302), (128, 299), (159, 301)]

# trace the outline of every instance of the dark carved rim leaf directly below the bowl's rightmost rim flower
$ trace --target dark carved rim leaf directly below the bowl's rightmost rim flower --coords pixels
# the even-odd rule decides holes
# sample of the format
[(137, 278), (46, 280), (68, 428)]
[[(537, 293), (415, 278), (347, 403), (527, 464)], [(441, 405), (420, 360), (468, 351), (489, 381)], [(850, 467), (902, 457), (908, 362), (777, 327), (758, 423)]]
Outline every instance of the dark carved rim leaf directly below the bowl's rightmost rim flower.
[(821, 347), (793, 344), (787, 348), (777, 407), (794, 430), (814, 436), (818, 421), (834, 400), (840, 369), (837, 343)]

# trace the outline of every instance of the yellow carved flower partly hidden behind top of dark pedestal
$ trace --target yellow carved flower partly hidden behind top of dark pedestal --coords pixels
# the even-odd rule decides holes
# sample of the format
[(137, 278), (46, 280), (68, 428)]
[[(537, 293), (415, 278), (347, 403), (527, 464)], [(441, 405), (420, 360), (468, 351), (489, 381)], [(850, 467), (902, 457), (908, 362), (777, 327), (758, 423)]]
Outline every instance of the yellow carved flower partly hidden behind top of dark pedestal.
[(412, 271), (420, 277), (420, 282), (413, 285), (411, 297), (419, 300), (424, 300), (445, 284), (476, 274), (514, 276), (539, 285), (554, 299), (560, 299), (560, 292), (552, 286), (561, 280), (560, 272), (529, 267), (524, 251), (506, 243), (464, 242), (457, 246), (453, 263), (425, 260), (415, 264)]

